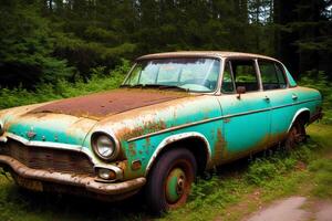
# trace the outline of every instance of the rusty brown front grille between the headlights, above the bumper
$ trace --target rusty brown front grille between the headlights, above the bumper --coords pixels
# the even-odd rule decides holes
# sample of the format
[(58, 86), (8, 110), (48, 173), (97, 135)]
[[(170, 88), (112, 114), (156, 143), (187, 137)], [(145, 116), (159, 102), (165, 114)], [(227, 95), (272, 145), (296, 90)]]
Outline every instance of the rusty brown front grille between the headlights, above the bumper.
[(11, 156), (32, 169), (87, 176), (94, 173), (93, 164), (82, 152), (46, 147), (30, 147), (14, 140), (9, 140), (3, 154)]

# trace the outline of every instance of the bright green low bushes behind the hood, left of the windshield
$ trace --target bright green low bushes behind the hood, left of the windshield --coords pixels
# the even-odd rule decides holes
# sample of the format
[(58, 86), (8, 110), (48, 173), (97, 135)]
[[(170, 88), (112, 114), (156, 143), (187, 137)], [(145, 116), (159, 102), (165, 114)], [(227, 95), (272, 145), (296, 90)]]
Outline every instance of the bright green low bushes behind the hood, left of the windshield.
[(28, 91), (21, 86), (13, 90), (0, 88), (0, 97), (3, 97), (0, 102), (0, 109), (116, 88), (128, 70), (129, 63), (123, 60), (122, 65), (116, 66), (106, 75), (104, 74), (105, 67), (92, 69), (91, 78), (86, 83), (81, 78), (77, 78), (75, 83), (58, 80), (54, 84), (39, 84), (34, 91)]

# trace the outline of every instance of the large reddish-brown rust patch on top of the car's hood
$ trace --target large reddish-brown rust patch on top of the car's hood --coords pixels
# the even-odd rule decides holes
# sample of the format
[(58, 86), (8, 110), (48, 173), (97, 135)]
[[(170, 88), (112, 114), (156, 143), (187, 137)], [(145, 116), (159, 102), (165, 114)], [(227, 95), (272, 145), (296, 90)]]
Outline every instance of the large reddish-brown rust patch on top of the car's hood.
[(61, 99), (30, 113), (58, 113), (101, 119), (112, 114), (189, 96), (188, 93), (158, 90), (115, 90)]

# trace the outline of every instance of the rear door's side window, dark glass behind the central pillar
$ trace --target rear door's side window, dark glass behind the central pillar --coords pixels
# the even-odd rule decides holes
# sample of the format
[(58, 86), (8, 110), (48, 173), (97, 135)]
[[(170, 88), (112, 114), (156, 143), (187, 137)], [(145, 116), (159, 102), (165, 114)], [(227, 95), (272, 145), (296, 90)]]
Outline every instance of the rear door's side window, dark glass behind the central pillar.
[(264, 91), (287, 87), (284, 74), (279, 64), (269, 61), (259, 61), (258, 64)]

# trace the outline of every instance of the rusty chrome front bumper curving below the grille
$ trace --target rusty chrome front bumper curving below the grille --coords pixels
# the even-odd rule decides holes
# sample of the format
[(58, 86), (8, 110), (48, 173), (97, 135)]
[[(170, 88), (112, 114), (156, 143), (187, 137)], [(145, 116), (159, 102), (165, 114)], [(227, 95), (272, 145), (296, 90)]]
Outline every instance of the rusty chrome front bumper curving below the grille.
[(94, 177), (79, 176), (74, 173), (53, 172), (42, 169), (31, 169), (12, 157), (0, 155), (0, 166), (9, 167), (10, 171), (27, 180), (38, 180), (63, 186), (84, 188), (98, 194), (121, 196), (137, 192), (146, 182), (144, 177), (116, 182), (103, 183), (95, 181)]

